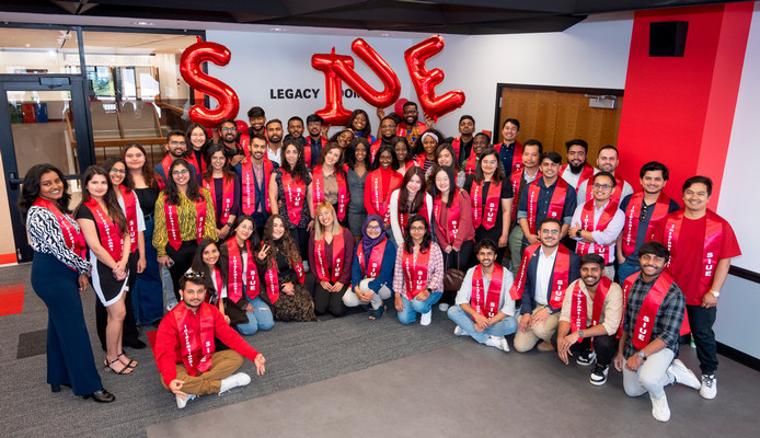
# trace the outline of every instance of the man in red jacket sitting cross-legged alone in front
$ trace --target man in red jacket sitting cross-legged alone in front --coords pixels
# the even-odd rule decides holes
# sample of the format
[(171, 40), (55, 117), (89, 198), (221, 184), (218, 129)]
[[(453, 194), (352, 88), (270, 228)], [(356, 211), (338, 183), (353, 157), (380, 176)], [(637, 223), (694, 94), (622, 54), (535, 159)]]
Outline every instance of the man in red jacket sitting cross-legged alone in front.
[[(243, 357), (265, 371), (264, 355), (256, 351), (226, 322), (219, 309), (205, 302), (203, 273), (187, 272), (180, 279), (182, 302), (164, 315), (156, 336), (156, 362), (161, 384), (176, 395), (176, 405), (201, 394), (221, 394), (251, 383), (244, 372), (232, 374), (243, 366)], [(216, 351), (214, 338), (232, 349)]]

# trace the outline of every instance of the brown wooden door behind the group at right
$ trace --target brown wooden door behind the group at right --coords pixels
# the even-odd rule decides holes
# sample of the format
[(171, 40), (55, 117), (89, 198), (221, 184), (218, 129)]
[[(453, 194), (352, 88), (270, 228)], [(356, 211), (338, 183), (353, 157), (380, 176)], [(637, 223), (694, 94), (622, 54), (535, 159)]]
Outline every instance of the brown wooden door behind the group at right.
[[(595, 164), (602, 146), (618, 145), (622, 101), (619, 96), (615, 110), (600, 110), (589, 107), (584, 93), (505, 88), (499, 126), (506, 118), (517, 118), (520, 142), (534, 138), (544, 151), (556, 151), (563, 158), (565, 141), (581, 138), (588, 142), (588, 162)], [(498, 137), (500, 141), (500, 129)]]

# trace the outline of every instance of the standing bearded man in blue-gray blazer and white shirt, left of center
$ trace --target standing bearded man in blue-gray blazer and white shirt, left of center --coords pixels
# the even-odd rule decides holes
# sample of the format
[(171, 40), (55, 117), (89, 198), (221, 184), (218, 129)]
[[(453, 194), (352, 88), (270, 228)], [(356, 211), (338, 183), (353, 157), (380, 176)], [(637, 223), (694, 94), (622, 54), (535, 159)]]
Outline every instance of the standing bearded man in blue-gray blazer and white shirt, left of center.
[(251, 157), (235, 165), (234, 172), (240, 177), (240, 206), (243, 215), (250, 215), (253, 218), (258, 238), (262, 238), (264, 226), (272, 211), (268, 196), (269, 176), (279, 165), (266, 157), (266, 138), (262, 135), (251, 137), (250, 152)]

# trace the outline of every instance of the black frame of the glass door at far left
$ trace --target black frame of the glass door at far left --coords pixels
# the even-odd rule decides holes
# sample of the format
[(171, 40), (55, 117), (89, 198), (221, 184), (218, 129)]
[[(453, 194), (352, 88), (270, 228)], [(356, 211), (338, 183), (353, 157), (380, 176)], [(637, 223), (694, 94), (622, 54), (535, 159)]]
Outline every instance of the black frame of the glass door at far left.
[[(19, 195), (21, 181), (19, 174), (15, 148), (13, 145), (13, 128), (8, 111), (8, 91), (69, 91), (71, 101), (69, 108), (73, 114), (74, 136), (77, 141), (77, 160), (79, 169), (84, 170), (94, 163), (94, 143), (90, 106), (84, 79), (81, 74), (0, 74), (0, 154), (4, 170), (8, 204), (13, 228), (13, 240), (19, 263), (32, 261), (32, 250), (27, 243), (26, 229), (20, 220)], [(74, 140), (74, 139), (72, 139)], [(67, 180), (78, 180), (79, 175), (66, 175)]]

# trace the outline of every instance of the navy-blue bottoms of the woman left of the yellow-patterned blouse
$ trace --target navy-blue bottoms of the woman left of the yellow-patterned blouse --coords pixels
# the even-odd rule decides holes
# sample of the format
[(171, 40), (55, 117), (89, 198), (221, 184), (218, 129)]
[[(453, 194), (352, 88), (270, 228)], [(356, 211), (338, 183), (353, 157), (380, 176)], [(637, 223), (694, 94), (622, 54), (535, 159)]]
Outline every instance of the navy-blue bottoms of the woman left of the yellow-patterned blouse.
[(163, 286), (161, 285), (161, 267), (159, 266), (153, 247), (153, 226), (151, 216), (146, 220), (142, 232), (146, 242), (146, 268), (137, 275), (131, 289), (133, 310), (138, 325), (150, 324), (163, 316)]

